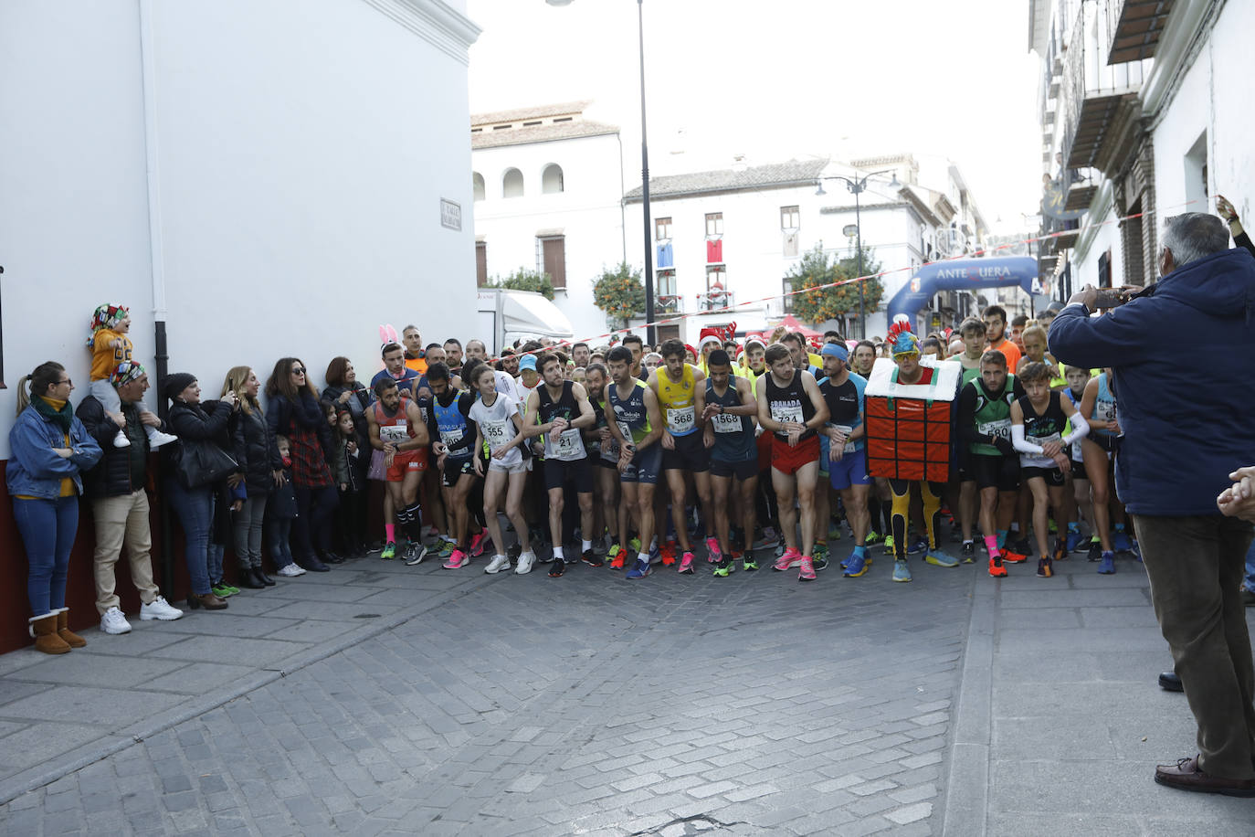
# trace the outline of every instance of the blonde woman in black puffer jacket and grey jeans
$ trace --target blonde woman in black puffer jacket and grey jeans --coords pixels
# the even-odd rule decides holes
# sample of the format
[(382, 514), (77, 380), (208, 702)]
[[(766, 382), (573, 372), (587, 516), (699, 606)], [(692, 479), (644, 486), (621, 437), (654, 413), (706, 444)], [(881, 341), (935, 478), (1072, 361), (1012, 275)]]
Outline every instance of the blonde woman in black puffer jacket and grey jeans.
[(266, 423), (257, 402), (261, 381), (248, 366), (235, 366), (222, 384), (222, 397), (235, 393), (237, 407), (231, 417), (231, 447), (243, 472), (246, 498), (231, 521), (240, 584), (251, 590), (274, 585), (261, 566), (262, 525), (266, 504), (284, 478), (284, 461), (275, 444), (275, 432)]

